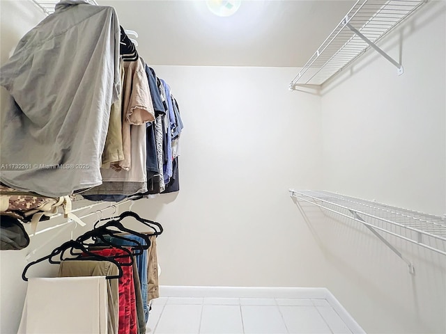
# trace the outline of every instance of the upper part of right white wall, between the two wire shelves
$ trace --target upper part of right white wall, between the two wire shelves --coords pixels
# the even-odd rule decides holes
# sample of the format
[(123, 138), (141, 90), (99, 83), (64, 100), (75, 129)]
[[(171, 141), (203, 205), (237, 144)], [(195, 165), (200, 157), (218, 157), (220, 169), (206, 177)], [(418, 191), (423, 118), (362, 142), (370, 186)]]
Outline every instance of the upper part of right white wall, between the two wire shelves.
[[(446, 214), (445, 1), (429, 1), (322, 97), (325, 188)], [(400, 51), (401, 48), (401, 51)]]

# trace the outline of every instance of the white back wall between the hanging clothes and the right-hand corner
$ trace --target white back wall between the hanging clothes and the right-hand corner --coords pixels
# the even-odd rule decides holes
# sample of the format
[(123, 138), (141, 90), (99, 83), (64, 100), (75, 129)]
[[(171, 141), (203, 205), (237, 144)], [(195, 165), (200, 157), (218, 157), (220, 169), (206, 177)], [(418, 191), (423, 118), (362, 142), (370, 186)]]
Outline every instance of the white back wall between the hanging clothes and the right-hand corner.
[(293, 68), (155, 71), (185, 123), (180, 192), (135, 205), (165, 227), (161, 283), (321, 285), (321, 253), (288, 193), (321, 186), (319, 97), (289, 92)]

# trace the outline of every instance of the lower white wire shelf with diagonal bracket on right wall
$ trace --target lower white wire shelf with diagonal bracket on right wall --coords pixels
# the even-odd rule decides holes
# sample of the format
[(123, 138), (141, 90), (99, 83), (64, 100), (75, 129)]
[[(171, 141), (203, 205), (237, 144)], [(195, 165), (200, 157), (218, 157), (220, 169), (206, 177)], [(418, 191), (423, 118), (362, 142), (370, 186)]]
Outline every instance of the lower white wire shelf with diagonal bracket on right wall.
[(424, 214), (329, 191), (289, 189), (289, 192), (291, 197), (298, 201), (308, 202), (364, 225), (408, 264), (410, 273), (415, 273), (413, 264), (380, 232), (446, 255), (446, 217)]

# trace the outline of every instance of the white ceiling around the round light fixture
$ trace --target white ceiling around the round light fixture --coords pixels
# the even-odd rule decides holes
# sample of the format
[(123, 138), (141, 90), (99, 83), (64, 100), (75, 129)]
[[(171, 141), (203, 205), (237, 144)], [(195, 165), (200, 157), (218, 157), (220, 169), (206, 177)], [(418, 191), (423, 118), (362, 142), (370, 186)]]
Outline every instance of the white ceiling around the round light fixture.
[(231, 17), (197, 0), (98, 3), (137, 31), (138, 52), (151, 65), (302, 67), (355, 1), (242, 1)]

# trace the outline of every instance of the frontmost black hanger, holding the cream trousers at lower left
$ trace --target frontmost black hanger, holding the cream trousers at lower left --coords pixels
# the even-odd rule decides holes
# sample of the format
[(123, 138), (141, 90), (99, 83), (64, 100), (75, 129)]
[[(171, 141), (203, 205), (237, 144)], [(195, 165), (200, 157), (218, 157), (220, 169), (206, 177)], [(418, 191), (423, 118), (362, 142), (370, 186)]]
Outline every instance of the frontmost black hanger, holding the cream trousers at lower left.
[[(52, 257), (63, 253), (64, 251), (68, 250), (69, 248), (79, 249), (79, 250), (82, 250), (83, 253), (90, 255), (90, 257), (85, 257), (84, 258), (85, 260), (91, 260), (93, 258), (95, 261), (107, 261), (107, 262), (112, 262), (113, 264), (116, 264), (116, 266), (118, 267), (118, 275), (117, 276), (105, 276), (105, 278), (107, 278), (107, 280), (112, 279), (112, 278), (121, 278), (123, 276), (123, 269), (121, 268), (121, 264), (116, 262), (116, 260), (114, 260), (113, 258), (109, 258), (109, 257), (105, 257), (105, 256), (98, 255), (95, 253), (91, 253), (80, 242), (75, 241), (75, 240), (70, 240), (70, 241), (66, 241), (65, 243), (61, 244), (61, 246), (55, 248), (51, 254), (49, 254), (45, 257), (40, 257), (40, 259), (27, 264), (23, 270), (22, 279), (24, 281), (28, 281), (28, 278), (26, 278), (26, 271), (28, 271), (29, 267), (31, 267), (34, 264), (37, 264), (39, 262), (43, 262), (45, 260), (50, 260), (50, 259), (52, 259)], [(76, 258), (72, 258), (72, 259), (68, 259), (68, 260), (82, 260), (82, 257), (81, 258), (76, 257)], [(51, 260), (50, 263), (61, 263), (61, 262)]]

